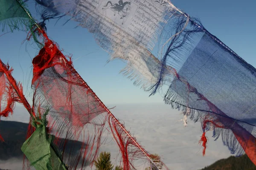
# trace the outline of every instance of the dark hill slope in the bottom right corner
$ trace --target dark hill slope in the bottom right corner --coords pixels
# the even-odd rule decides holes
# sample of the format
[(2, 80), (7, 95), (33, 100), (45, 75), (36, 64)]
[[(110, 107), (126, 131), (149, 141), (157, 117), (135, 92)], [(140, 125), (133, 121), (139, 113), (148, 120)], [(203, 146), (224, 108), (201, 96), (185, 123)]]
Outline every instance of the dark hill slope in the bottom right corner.
[(247, 155), (240, 157), (230, 156), (227, 159), (220, 159), (201, 170), (256, 170), (256, 166)]

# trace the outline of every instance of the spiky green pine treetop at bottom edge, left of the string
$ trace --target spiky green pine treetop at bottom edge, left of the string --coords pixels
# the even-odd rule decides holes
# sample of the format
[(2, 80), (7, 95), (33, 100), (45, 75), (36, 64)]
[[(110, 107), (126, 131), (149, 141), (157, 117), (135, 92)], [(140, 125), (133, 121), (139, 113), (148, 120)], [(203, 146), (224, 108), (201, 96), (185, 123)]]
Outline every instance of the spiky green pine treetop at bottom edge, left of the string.
[(96, 170), (112, 170), (113, 164), (111, 164), (111, 153), (102, 152), (99, 154), (99, 157), (96, 161), (94, 161), (94, 164), (96, 166)]

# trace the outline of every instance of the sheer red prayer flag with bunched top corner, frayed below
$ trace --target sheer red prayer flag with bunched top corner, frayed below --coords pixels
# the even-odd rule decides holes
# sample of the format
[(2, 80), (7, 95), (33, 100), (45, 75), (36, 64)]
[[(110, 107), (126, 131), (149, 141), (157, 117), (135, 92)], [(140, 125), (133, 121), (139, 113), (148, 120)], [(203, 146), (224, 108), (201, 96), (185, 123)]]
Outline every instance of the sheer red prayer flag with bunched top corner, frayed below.
[[(63, 151), (61, 159), (70, 170), (83, 167), (87, 160), (93, 161), (97, 155), (98, 149), (94, 153), (90, 153), (90, 150), (93, 145), (99, 147), (100, 135), (97, 133), (102, 133), (104, 119), (98, 117), (93, 121), (93, 118), (105, 112), (105, 108), (96, 101), (72, 62), (48, 38), (32, 62), (32, 88), (35, 90), (33, 108), (44, 113), (49, 107), (47, 127), (49, 133), (57, 137), (53, 143)], [(85, 127), (89, 128), (88, 124), (93, 125), (95, 130), (85, 130)], [(68, 141), (71, 147), (67, 151)], [(78, 141), (81, 145), (77, 150), (75, 146)], [(84, 154), (88, 154), (87, 157)]]

